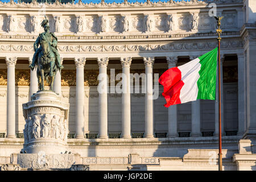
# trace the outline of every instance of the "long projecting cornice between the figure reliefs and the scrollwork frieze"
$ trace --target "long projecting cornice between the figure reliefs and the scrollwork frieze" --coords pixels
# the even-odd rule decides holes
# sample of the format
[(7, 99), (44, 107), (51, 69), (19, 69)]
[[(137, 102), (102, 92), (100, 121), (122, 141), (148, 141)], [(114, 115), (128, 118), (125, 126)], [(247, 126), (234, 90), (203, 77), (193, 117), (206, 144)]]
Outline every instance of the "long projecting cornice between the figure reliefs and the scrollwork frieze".
[[(222, 33), (222, 39), (225, 38), (240, 38), (241, 33), (240, 32), (223, 32)], [(10, 43), (10, 42), (24, 42), (26, 40), (26, 43), (34, 43), (37, 36), (35, 35), (0, 35), (0, 40), (2, 43)], [(92, 36), (57, 36), (58, 43), (65, 42), (68, 43), (68, 41), (72, 41), (72, 44), (74, 44), (74, 40), (76, 43), (81, 44), (82, 42), (93, 42), (96, 43), (98, 40), (101, 44), (104, 44), (104, 42), (155, 42), (156, 40), (162, 41), (168, 41), (170, 40), (182, 40), (182, 42), (186, 40), (193, 40), (193, 39), (203, 39), (203, 40), (209, 40), (209, 39), (216, 39), (217, 35), (213, 32), (206, 32), (206, 33), (197, 33), (197, 34), (153, 34), (153, 35), (108, 35), (108, 36), (99, 36), (99, 35), (92, 35)], [(20, 39), (20, 40), (19, 40)], [(165, 40), (164, 40), (165, 39)]]

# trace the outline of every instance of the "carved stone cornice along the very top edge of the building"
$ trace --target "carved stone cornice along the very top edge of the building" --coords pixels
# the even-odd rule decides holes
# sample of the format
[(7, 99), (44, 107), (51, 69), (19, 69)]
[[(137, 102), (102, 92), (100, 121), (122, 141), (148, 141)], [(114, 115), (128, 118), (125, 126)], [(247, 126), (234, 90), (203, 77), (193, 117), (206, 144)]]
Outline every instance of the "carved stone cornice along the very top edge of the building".
[[(184, 1), (181, 0), (179, 2), (175, 1), (168, 1), (168, 2), (151, 2), (151, 1), (146, 1), (144, 3), (139, 3), (139, 2), (134, 2), (130, 3), (127, 1), (124, 1), (122, 3), (106, 3), (106, 2), (101, 2), (101, 3), (82, 3), (81, 1), (79, 3), (60, 3), (59, 1), (56, 1), (55, 3), (44, 3), (44, 6), (46, 9), (76, 9), (76, 10), (81, 10), (81, 9), (133, 9), (133, 8), (158, 8), (158, 7), (193, 7), (193, 6), (204, 6), (206, 7), (209, 3), (216, 3), (218, 5), (227, 5), (230, 4), (233, 6), (233, 3), (236, 2), (236, 4), (242, 3), (242, 0), (191, 0), (191, 1)], [(11, 0), (8, 3), (3, 3), (0, 2), (0, 8), (5, 7), (5, 8), (29, 8), (29, 9), (41, 9), (42, 4), (32, 1), (32, 3), (15, 3), (13, 0)]]

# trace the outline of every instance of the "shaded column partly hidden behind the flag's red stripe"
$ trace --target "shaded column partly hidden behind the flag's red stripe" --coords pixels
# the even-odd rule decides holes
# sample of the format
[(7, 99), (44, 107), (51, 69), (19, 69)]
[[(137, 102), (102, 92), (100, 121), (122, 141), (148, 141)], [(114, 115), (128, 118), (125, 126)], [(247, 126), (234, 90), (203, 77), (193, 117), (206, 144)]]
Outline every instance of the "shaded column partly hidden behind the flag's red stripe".
[[(168, 68), (176, 67), (177, 56), (166, 57)], [(168, 107), (168, 134), (167, 137), (178, 137), (177, 134), (177, 105)]]

